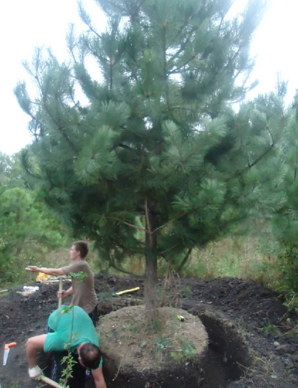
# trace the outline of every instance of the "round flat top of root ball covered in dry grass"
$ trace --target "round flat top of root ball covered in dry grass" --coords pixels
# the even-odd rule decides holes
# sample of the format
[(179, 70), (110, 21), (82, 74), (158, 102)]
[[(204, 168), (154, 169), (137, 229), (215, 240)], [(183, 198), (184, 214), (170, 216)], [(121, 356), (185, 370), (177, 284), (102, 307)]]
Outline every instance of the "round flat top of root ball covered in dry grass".
[[(129, 306), (99, 320), (100, 347), (117, 369), (159, 370), (169, 363), (199, 360), (208, 346), (203, 323), (185, 310), (158, 309), (155, 332), (146, 329), (145, 306)], [(185, 320), (180, 322), (178, 315)]]

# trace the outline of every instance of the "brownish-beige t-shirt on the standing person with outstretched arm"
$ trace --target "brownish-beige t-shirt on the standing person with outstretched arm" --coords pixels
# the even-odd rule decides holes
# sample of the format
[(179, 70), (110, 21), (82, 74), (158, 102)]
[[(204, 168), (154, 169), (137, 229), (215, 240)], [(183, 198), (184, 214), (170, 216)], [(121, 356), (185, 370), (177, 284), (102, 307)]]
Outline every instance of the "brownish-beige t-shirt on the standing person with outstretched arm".
[(94, 274), (86, 260), (75, 261), (66, 267), (62, 267), (65, 275), (70, 272), (84, 272), (88, 276), (82, 279), (72, 277), (73, 299), (72, 305), (81, 307), (87, 314), (97, 306), (98, 300), (94, 290)]

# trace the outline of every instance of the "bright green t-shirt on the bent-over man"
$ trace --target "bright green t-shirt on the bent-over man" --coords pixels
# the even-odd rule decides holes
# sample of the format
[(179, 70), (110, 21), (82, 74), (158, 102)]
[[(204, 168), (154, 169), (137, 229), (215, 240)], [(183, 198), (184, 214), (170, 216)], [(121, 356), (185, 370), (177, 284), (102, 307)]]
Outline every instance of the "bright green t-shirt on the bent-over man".
[(61, 306), (49, 317), (48, 324), (54, 332), (47, 334), (44, 351), (70, 349), (74, 353), (83, 342), (91, 342), (99, 347), (99, 336), (88, 314), (78, 306), (73, 306), (69, 313), (64, 309), (68, 310), (69, 306)]

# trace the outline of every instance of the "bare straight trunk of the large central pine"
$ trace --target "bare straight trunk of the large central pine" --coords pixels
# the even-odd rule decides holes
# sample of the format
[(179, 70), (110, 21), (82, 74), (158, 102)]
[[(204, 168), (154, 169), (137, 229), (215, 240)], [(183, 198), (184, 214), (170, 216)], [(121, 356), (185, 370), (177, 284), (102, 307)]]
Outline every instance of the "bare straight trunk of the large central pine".
[[(148, 225), (149, 223), (149, 225)], [(147, 214), (147, 230), (155, 229), (155, 216), (150, 212)], [(148, 326), (153, 326), (154, 321), (158, 318), (157, 315), (157, 250), (156, 250), (156, 234), (146, 233), (146, 248), (145, 248), (145, 303), (146, 303), (146, 318)]]

